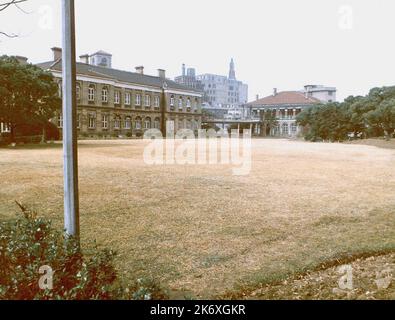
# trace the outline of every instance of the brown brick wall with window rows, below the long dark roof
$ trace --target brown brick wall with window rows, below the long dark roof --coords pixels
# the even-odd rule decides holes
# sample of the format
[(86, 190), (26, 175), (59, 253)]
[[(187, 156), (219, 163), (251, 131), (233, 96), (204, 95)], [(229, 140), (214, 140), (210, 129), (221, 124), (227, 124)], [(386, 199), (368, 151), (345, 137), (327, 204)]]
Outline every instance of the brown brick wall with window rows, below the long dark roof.
[[(59, 74), (54, 75), (61, 87), (61, 77)], [(82, 80), (82, 77), (77, 77), (77, 88), (80, 92), (79, 95), (77, 93), (79, 136), (141, 136), (148, 129), (160, 129), (162, 92), (159, 88), (130, 89), (95, 81), (93, 78), (87, 81), (85, 78)], [(93, 101), (89, 99), (90, 87), (94, 88)], [(102, 97), (103, 88), (107, 89), (107, 102)], [(115, 101), (116, 92), (119, 93), (119, 103)], [(130, 105), (126, 104), (126, 94), (130, 95)], [(140, 103), (138, 103), (138, 95)], [(147, 104), (146, 96), (149, 97)], [(166, 120), (175, 121), (175, 130), (200, 129), (202, 121), (200, 96), (169, 89), (165, 93), (165, 99)], [(179, 105), (180, 99), (181, 105)], [(60, 111), (52, 121), (60, 130), (62, 129)]]

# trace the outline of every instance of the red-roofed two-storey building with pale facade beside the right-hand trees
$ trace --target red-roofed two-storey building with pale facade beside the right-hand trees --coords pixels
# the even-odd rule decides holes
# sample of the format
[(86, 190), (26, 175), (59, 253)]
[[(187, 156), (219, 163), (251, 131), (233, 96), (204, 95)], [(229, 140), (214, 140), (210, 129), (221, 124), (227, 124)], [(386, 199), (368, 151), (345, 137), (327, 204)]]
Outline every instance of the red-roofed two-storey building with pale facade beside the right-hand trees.
[[(311, 89), (319, 88), (314, 91)], [(326, 89), (326, 93), (325, 92)], [(329, 92), (332, 92), (329, 94)], [(319, 99), (318, 97), (322, 98)], [(336, 99), (336, 88), (323, 86), (306, 86), (304, 91), (273, 90), (271, 96), (257, 99), (246, 105), (251, 118), (261, 120), (256, 127), (255, 134), (261, 136), (295, 137), (301, 128), (296, 123), (296, 116), (304, 109), (320, 103), (331, 102)], [(268, 119), (275, 125), (269, 126)], [(266, 121), (265, 121), (266, 120)]]

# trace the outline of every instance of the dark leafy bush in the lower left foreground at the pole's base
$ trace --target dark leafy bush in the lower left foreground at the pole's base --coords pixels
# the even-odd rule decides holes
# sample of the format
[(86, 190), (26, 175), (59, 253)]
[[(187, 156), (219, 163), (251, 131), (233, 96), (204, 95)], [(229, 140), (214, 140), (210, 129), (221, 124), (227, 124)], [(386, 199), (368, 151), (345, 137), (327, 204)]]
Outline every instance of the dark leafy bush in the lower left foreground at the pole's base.
[[(23, 217), (0, 223), (0, 299), (166, 298), (152, 281), (139, 279), (123, 285), (114, 267), (113, 251), (95, 247), (82, 253), (78, 243), (65, 239), (49, 220), (20, 207)], [(47, 275), (46, 266), (53, 270), (52, 289), (39, 285)]]

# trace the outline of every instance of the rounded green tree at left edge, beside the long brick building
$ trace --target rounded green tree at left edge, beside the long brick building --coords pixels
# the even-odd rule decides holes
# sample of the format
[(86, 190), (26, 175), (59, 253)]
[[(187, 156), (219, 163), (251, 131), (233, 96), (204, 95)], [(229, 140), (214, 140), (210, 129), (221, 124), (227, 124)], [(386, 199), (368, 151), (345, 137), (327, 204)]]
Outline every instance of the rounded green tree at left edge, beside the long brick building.
[(39, 125), (44, 131), (61, 106), (52, 74), (2, 56), (0, 75), (0, 122), (10, 124), (12, 140), (19, 126)]

